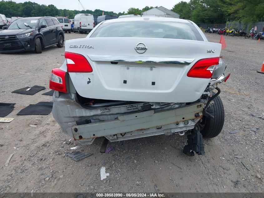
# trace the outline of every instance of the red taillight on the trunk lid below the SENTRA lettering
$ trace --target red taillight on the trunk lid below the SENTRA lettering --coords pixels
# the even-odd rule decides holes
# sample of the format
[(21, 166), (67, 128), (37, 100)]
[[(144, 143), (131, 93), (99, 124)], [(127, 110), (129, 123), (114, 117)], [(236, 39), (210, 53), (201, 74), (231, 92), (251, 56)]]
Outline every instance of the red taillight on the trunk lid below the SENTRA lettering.
[(68, 72), (92, 72), (92, 67), (87, 59), (78, 53), (65, 52)]

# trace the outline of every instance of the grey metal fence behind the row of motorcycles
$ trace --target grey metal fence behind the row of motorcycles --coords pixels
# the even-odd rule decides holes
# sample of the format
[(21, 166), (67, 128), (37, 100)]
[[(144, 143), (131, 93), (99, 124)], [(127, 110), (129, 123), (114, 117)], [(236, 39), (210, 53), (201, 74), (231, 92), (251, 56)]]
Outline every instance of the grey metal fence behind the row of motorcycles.
[(201, 23), (198, 25), (199, 27), (202, 27), (203, 29), (207, 29), (208, 27), (210, 28), (242, 28), (245, 30), (245, 32), (249, 32), (251, 28), (257, 27), (257, 32), (262, 32), (264, 31), (264, 22), (255, 22), (255, 23), (232, 23), (229, 22), (227, 24), (213, 24), (213, 23)]

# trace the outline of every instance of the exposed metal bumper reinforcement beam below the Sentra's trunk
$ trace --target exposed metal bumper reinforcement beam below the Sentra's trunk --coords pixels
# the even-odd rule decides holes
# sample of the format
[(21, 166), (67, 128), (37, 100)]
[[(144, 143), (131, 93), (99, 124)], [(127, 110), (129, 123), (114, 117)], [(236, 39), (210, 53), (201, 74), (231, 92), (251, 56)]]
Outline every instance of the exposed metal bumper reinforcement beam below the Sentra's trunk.
[(153, 110), (119, 116), (118, 119), (71, 127), (74, 140), (86, 142), (96, 137), (110, 141), (128, 140), (152, 135), (172, 135), (193, 129), (202, 118), (202, 103), (154, 112)]

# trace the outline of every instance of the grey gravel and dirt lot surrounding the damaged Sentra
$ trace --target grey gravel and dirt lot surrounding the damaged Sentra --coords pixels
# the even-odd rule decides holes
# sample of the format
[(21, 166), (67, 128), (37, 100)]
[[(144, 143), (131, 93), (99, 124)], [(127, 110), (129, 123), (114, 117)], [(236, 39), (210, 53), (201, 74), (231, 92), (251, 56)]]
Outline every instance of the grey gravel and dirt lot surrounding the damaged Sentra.
[[(220, 40), (219, 35), (206, 35), (212, 42)], [(79, 149), (93, 152), (92, 156), (71, 160), (64, 154), (78, 143), (63, 144), (70, 138), (62, 134), (52, 114), (16, 115), (29, 104), (52, 100), (41, 94), (48, 91), (52, 68), (62, 64), (64, 48), (48, 48), (42, 54), (1, 54), (0, 102), (16, 105), (7, 116), (14, 120), (0, 123), (0, 192), (156, 192), (155, 185), (160, 192), (263, 192), (264, 119), (251, 114), (264, 116), (264, 74), (256, 73), (264, 60), (264, 41), (225, 39), (222, 58), (232, 74), (219, 86), (226, 113), (224, 128), (216, 138), (205, 140), (205, 155), (194, 157), (182, 153), (186, 136), (160, 135), (109, 143), (115, 150), (102, 155), (103, 139), (97, 139)], [(47, 89), (33, 96), (11, 93), (33, 85)], [(251, 130), (254, 126), (259, 127), (257, 132)], [(235, 130), (236, 134), (230, 133)], [(110, 176), (101, 181), (102, 166)]]

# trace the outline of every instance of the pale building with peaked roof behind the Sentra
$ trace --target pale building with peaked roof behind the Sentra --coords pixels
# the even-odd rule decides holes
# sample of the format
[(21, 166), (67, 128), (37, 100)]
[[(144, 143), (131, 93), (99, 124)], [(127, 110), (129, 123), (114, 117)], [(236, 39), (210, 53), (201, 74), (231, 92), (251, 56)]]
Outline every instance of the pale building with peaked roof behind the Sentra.
[(156, 17), (180, 18), (179, 14), (172, 12), (171, 10), (164, 8), (162, 6), (158, 8), (152, 8), (141, 14), (142, 14), (142, 17), (156, 16)]

